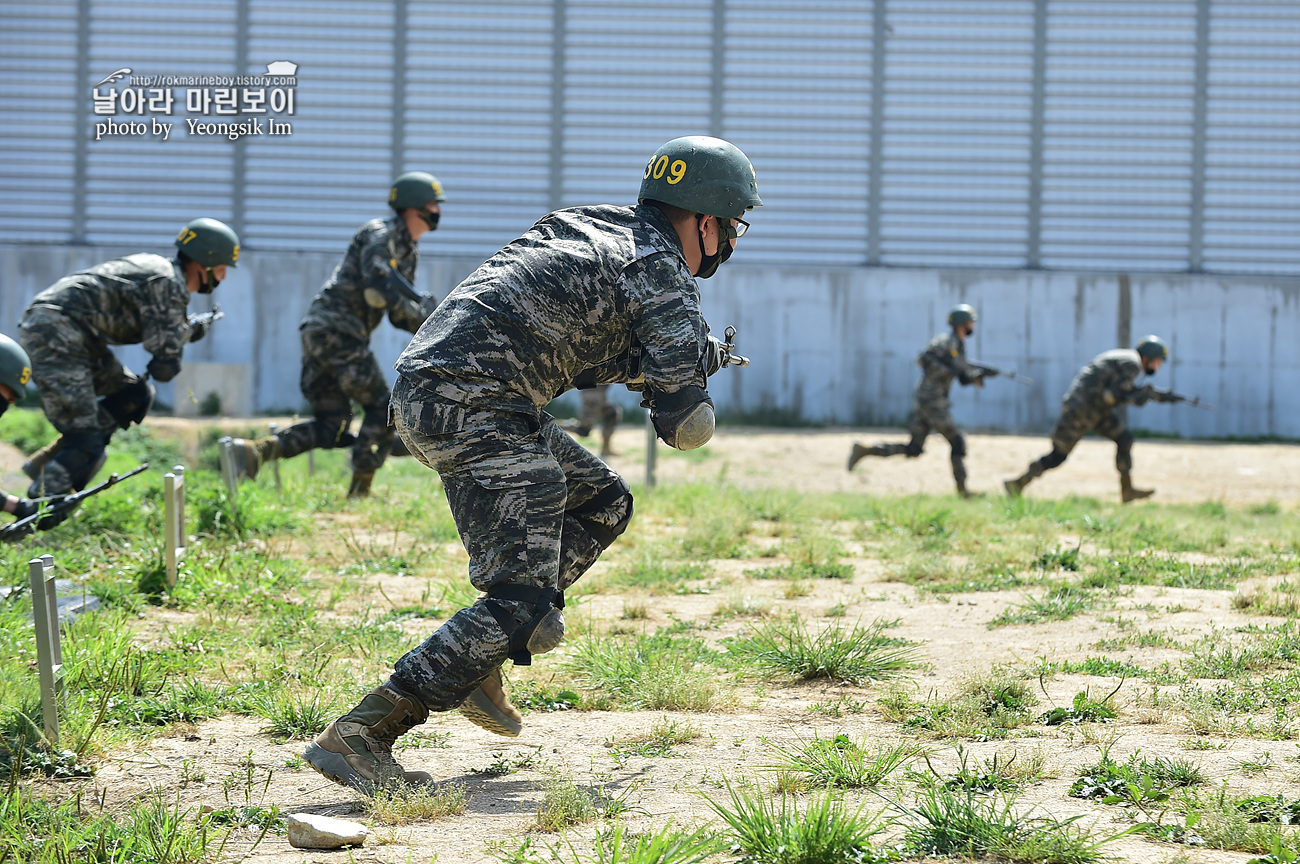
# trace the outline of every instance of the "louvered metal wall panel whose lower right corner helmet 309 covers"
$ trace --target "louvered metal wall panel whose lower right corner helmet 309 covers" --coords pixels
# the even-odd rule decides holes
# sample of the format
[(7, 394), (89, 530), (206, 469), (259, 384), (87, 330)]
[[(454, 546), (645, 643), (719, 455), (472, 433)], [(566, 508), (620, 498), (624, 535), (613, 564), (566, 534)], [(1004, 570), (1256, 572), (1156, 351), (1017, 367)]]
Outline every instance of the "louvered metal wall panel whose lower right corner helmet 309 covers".
[(655, 148), (708, 134), (712, 6), (566, 0), (558, 203), (632, 204)]

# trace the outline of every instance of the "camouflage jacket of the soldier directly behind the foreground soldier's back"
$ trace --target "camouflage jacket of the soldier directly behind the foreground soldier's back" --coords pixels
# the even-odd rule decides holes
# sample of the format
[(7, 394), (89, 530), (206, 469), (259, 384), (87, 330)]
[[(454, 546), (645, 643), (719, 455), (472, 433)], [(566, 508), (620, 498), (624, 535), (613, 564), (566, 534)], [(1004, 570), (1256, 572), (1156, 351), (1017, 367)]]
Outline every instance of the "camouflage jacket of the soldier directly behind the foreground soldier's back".
[(312, 298), (299, 330), (333, 330), (369, 342), (385, 314), (400, 330), (419, 330), (424, 312), (387, 287), (394, 261), (398, 273), (413, 282), (420, 249), (396, 213), (370, 220), (356, 231), (343, 260)]

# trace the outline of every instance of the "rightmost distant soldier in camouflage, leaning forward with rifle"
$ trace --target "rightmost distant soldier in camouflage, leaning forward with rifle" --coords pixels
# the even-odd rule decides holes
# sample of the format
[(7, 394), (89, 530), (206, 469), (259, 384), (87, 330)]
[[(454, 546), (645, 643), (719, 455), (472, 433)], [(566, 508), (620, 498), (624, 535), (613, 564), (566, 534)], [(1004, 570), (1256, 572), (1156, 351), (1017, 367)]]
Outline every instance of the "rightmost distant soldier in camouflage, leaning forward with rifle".
[(1062, 464), (1079, 439), (1089, 431), (1115, 442), (1115, 468), (1119, 470), (1119, 496), (1124, 503), (1150, 498), (1156, 490), (1134, 489), (1134, 435), (1124, 424), (1122, 405), (1173, 401), (1169, 394), (1139, 387), (1138, 375), (1153, 375), (1169, 357), (1160, 337), (1144, 337), (1136, 351), (1115, 348), (1092, 359), (1079, 370), (1061, 403), (1061, 418), (1052, 430), (1052, 452), (1030, 464), (1027, 472), (1004, 483), (1006, 494), (1018, 498), (1043, 472)]

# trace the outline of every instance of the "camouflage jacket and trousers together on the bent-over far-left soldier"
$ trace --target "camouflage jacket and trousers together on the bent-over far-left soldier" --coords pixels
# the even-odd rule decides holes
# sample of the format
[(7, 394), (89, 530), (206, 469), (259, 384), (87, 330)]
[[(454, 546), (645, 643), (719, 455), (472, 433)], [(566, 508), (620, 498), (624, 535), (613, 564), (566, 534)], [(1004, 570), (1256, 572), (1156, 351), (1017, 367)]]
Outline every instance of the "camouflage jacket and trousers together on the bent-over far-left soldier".
[(96, 396), (138, 377), (108, 349), (143, 344), (155, 360), (179, 365), (190, 339), (190, 292), (179, 266), (142, 252), (65, 277), (27, 307), (18, 339), (46, 417), (60, 433), (104, 433), (117, 421)]

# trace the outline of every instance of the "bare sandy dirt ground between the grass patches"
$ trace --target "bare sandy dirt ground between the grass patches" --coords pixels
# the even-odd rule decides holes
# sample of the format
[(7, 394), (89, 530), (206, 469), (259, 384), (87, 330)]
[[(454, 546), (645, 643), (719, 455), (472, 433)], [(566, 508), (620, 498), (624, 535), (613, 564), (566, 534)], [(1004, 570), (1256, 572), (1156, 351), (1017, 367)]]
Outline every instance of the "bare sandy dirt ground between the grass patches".
[[(183, 421), (151, 421), (174, 426)], [(932, 439), (918, 460), (868, 459), (854, 473), (845, 470), (845, 457), (854, 439), (901, 439), (897, 430), (738, 430), (723, 429), (705, 453), (672, 455), (659, 450), (658, 481), (672, 483), (682, 479), (719, 479), (746, 487), (779, 486), (807, 492), (846, 491), (879, 495), (946, 494), (952, 490), (946, 443)], [(645, 470), (645, 435), (640, 429), (620, 430), (615, 447), (623, 455), (612, 465), (632, 479), (642, 479)], [(1001, 481), (1013, 477), (1030, 460), (1046, 451), (1040, 438), (1014, 435), (971, 435), (971, 486), (996, 492)], [(1200, 502), (1221, 500), (1245, 504), (1275, 500), (1294, 505), (1300, 498), (1295, 478), (1300, 476), (1300, 447), (1283, 444), (1197, 444), (1173, 442), (1139, 442), (1135, 448), (1135, 477), (1140, 485), (1157, 487), (1157, 500)], [(1052, 472), (1031, 489), (1035, 496), (1091, 495), (1114, 500), (1118, 491), (1113, 468), (1113, 446), (1104, 440), (1083, 442), (1070, 461)], [(13, 448), (0, 447), (0, 477), (5, 487), (18, 489), (21, 456)], [(846, 622), (898, 618), (897, 635), (920, 644), (924, 668), (909, 676), (905, 685), (914, 695), (950, 692), (963, 676), (987, 670), (996, 664), (1026, 665), (1039, 657), (1049, 660), (1082, 660), (1097, 654), (1091, 647), (1102, 638), (1115, 637), (1121, 628), (1174, 629), (1179, 638), (1190, 639), (1212, 629), (1268, 621), (1247, 617), (1230, 605), (1226, 591), (1138, 587), (1118, 600), (1118, 608), (1096, 615), (1080, 615), (1070, 621), (1050, 625), (1019, 625), (989, 630), (987, 624), (1009, 605), (1023, 600), (1019, 592), (967, 594), (952, 598), (920, 595), (915, 589), (885, 579), (884, 565), (876, 560), (852, 560), (852, 581), (818, 581), (812, 594), (786, 599), (779, 581), (746, 581), (745, 591), (763, 595), (775, 613), (800, 609), (809, 618), (820, 617), (832, 605), (844, 604)], [(603, 566), (603, 565), (597, 565)], [(718, 563), (718, 574), (727, 568), (740, 576), (753, 563)], [(377, 574), (376, 585), (390, 589), (395, 577)], [(406, 577), (410, 579), (411, 577)], [(419, 586), (411, 586), (417, 591)], [(399, 591), (400, 592), (400, 591)], [(398, 600), (399, 598), (394, 598)], [(673, 621), (702, 625), (705, 638), (716, 643), (736, 634), (745, 624), (714, 617), (722, 598), (716, 595), (644, 596), (595, 594), (580, 598), (573, 615), (610, 622), (620, 617), (629, 599), (644, 600), (649, 620), (634, 622), (654, 631)], [(174, 615), (174, 613), (172, 613)], [(422, 638), (421, 628), (437, 622), (411, 622), (412, 644)], [(1141, 650), (1143, 665), (1158, 665), (1160, 651)], [(1121, 660), (1138, 660), (1128, 655), (1112, 655)], [(534, 667), (534, 669), (538, 669)], [(541, 672), (516, 670), (516, 680)], [(1110, 690), (1118, 681), (1065, 676), (1048, 681), (1050, 700), (1067, 704), (1084, 687)], [(463, 785), (469, 803), (460, 816), (411, 825), (372, 825), (363, 848), (316, 852), (291, 848), (282, 835), (269, 834), (256, 847), (256, 832), (240, 829), (222, 851), (225, 861), (251, 863), (343, 863), (343, 861), (465, 861), (494, 860), (490, 845), (514, 851), (525, 837), (542, 800), (541, 783), (549, 772), (569, 772), (580, 785), (601, 786), (612, 794), (625, 794), (633, 807), (625, 821), (633, 829), (663, 825), (673, 820), (692, 825), (711, 819), (705, 796), (725, 795), (723, 778), (771, 780), (770, 767), (776, 757), (772, 744), (798, 746), (812, 737), (838, 733), (853, 739), (897, 739), (901, 728), (885, 722), (875, 708), (876, 699), (889, 685), (842, 687), (824, 683), (733, 685), (729, 709), (710, 713), (682, 713), (673, 717), (699, 731), (699, 737), (673, 747), (668, 756), (621, 756), (607, 746), (649, 731), (662, 722), (662, 712), (555, 712), (529, 713), (523, 735), (516, 739), (497, 738), (472, 726), (456, 713), (434, 716), (421, 728), (424, 737), (417, 746), (399, 751), (408, 768), (422, 768), (439, 781)], [(1058, 817), (1083, 815), (1083, 824), (1097, 834), (1112, 834), (1130, 825), (1118, 808), (1087, 804), (1069, 798), (1067, 789), (1076, 768), (1095, 763), (1100, 746), (1112, 746), (1115, 759), (1124, 759), (1136, 750), (1144, 755), (1190, 757), (1209, 776), (1212, 785), (1227, 782), (1230, 790), (1240, 789), (1242, 773), (1235, 770), (1242, 760), (1261, 759), (1270, 754), (1278, 768), (1252, 790), (1286, 793), (1300, 790), (1300, 773), (1295, 765), (1296, 744), (1290, 741), (1226, 739), (1223, 750), (1188, 752), (1180, 742), (1190, 730), (1175, 718), (1138, 705), (1147, 686), (1126, 682), (1119, 704), (1121, 722), (1093, 730), (1062, 730), (1037, 726), (1032, 737), (1001, 742), (965, 742), (975, 757), (1008, 755), (1013, 751), (1043, 748), (1049, 756), (1054, 777), (1030, 787), (1022, 800), (1044, 806)], [(842, 716), (827, 716), (810, 708), (818, 703), (858, 704), (859, 709)], [(1050, 703), (1044, 698), (1044, 707)], [(303, 742), (276, 743), (256, 718), (226, 717), (176, 730), (155, 739), (143, 750), (114, 754), (92, 781), (109, 806), (121, 804), (151, 787), (176, 794), (183, 807), (222, 808), (230, 804), (276, 804), (283, 812), (313, 812), (369, 822), (360, 812), (354, 793), (334, 786), (311, 769), (300, 767), (296, 756)], [(441, 737), (446, 734), (446, 738)], [(936, 770), (950, 772), (957, 767), (953, 742), (928, 744)], [(256, 767), (256, 789), (247, 790), (231, 778), (243, 770), (244, 760)], [(515, 770), (489, 776), (493, 765), (511, 764)], [(924, 764), (919, 764), (924, 770)], [(261, 780), (270, 774), (263, 791)], [(199, 774), (203, 774), (202, 777)], [(850, 795), (850, 799), (853, 796)], [(868, 808), (879, 809), (880, 800), (862, 796)], [(594, 832), (588, 825), (576, 829), (571, 841), (582, 848)], [(555, 843), (554, 834), (533, 834), (534, 843)], [(1187, 855), (1190, 861), (1244, 861), (1248, 855), (1210, 852), (1154, 843), (1127, 837), (1109, 847), (1113, 855), (1127, 861), (1166, 861)]]

